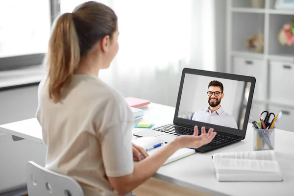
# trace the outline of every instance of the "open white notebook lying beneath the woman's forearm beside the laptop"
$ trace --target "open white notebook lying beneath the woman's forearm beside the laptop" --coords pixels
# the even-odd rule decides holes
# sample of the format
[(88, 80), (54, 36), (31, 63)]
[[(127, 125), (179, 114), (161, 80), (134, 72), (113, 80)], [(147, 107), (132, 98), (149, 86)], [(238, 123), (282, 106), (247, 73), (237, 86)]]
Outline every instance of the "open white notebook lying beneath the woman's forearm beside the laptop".
[[(159, 150), (160, 148), (162, 148), (165, 145), (167, 145), (167, 144), (165, 144), (165, 142), (163, 140), (161, 140), (160, 138), (157, 138), (157, 137), (140, 137), (140, 138), (134, 139), (132, 141), (132, 143), (135, 144), (135, 145), (137, 145), (137, 146), (143, 147), (143, 148), (151, 147), (151, 146), (157, 145), (159, 143), (163, 143), (164, 144), (161, 147), (156, 147), (154, 149), (148, 150), (147, 153), (149, 155), (152, 155), (157, 150)], [(180, 148), (177, 151), (175, 151), (172, 154), (172, 156), (170, 156), (168, 158), (168, 160), (163, 165), (166, 165), (168, 163), (171, 163), (173, 161), (179, 160), (181, 158), (184, 158), (186, 156), (189, 156), (189, 155), (195, 154), (195, 153), (196, 153), (195, 149), (191, 149), (191, 148)]]

